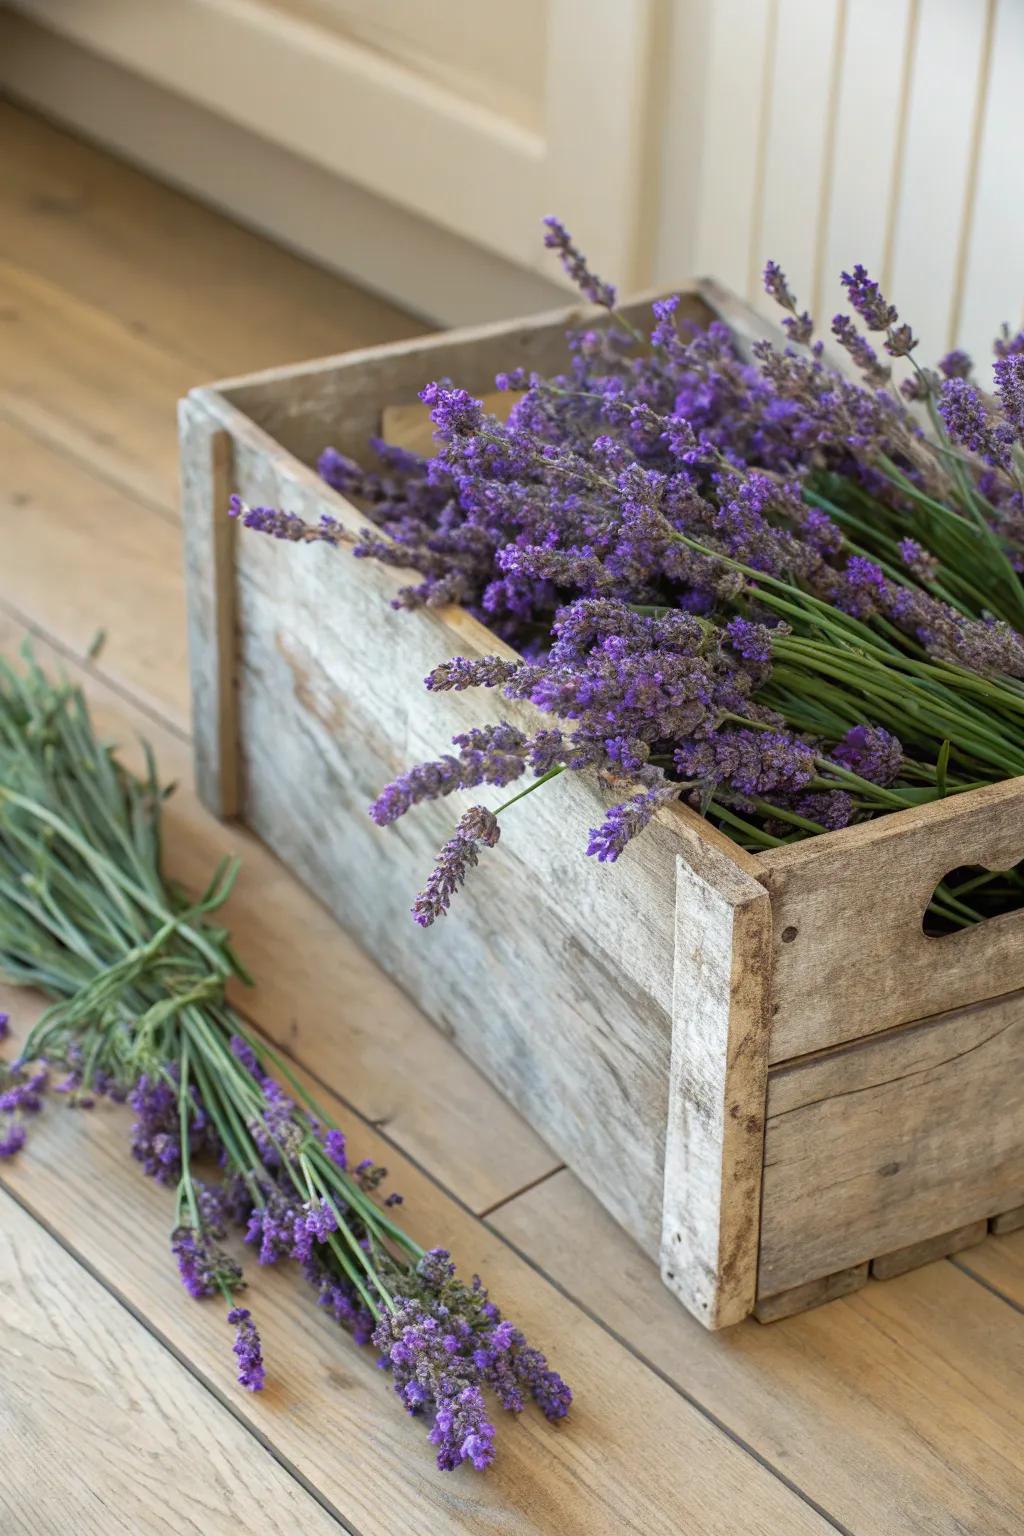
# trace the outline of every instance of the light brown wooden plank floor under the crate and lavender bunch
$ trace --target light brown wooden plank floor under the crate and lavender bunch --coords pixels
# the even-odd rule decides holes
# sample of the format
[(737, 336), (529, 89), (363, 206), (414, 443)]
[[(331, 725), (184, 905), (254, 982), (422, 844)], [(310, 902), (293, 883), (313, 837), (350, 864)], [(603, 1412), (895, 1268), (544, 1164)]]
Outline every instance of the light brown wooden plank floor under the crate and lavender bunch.
[[(181, 1290), (126, 1111), (54, 1107), (0, 1164), (0, 1530), (1019, 1536), (1024, 1230), (772, 1327), (708, 1335), (543, 1143), (318, 905), (189, 788), (173, 402), (204, 378), (418, 329), (0, 104), (0, 648), (25, 631), (180, 793), (186, 885), (239, 851), (238, 998), (548, 1349), (577, 1404), (433, 1468), (370, 1352), (252, 1273), (270, 1389)], [(396, 619), (401, 622), (401, 617)], [(97, 630), (107, 631), (89, 659)], [(415, 937), (410, 935), (410, 943)], [(0, 988), (23, 1031), (40, 1003)]]

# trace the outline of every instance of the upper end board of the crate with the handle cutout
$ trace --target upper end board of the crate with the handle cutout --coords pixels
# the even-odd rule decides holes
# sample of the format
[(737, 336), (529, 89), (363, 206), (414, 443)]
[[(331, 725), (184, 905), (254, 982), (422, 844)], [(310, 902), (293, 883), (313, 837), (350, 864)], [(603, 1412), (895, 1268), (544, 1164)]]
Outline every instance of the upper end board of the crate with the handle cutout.
[(1007, 869), (1021, 857), (1024, 779), (768, 849), (771, 1060), (1024, 988), (1024, 912), (944, 938), (921, 926), (943, 876), (960, 865)]

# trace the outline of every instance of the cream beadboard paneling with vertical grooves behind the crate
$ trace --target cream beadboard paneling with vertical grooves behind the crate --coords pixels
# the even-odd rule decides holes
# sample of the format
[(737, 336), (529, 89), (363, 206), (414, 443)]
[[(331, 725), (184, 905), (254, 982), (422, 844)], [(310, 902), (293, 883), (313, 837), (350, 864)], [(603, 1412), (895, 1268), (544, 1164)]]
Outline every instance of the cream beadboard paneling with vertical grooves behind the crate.
[(863, 261), (926, 361), (986, 362), (1024, 303), (1022, 0), (726, 0), (702, 29), (695, 233), (662, 221), (656, 280), (712, 272), (771, 310), (771, 257), (826, 326)]

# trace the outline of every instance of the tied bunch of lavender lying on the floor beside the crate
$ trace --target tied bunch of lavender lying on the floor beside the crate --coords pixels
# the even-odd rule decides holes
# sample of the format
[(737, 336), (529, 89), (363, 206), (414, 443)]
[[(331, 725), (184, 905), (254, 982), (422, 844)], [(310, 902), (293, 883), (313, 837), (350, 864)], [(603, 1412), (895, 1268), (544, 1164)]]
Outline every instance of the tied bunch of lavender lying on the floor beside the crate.
[(264, 1361), (230, 1229), (259, 1264), (295, 1261), (316, 1304), (376, 1347), (441, 1468), (487, 1467), (484, 1389), (550, 1419), (571, 1393), (479, 1278), (461, 1281), (444, 1249), (398, 1226), (401, 1197), (378, 1193), (385, 1170), (350, 1166), (342, 1132), (226, 1005), (246, 972), (210, 914), (238, 866), (223, 863), (198, 902), (167, 886), (164, 794), (152, 759), (137, 779), (97, 740), (77, 688), (0, 665), (0, 971), (55, 998), (0, 1063), (0, 1157), (21, 1149), (57, 1072), (80, 1109), (127, 1100), (132, 1157), (175, 1192), (181, 1279), (227, 1307), (241, 1385), (263, 1389)]

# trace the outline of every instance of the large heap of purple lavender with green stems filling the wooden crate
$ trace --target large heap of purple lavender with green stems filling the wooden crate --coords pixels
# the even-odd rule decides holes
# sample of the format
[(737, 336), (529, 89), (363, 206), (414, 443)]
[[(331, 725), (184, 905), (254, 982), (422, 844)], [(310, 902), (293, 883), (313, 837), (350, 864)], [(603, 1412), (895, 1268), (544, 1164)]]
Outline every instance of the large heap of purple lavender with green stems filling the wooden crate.
[[(355, 554), (419, 573), (399, 607), (462, 602), (519, 653), (456, 657), (427, 688), (499, 688), (548, 717), (465, 731), (372, 805), (388, 825), (533, 780), (461, 819), (416, 920), (445, 912), (497, 817), (565, 771), (619, 800), (586, 848), (608, 862), (680, 797), (755, 849), (1024, 773), (1024, 333), (996, 344), (984, 393), (961, 352), (918, 366), (854, 267), (840, 370), (769, 263), (788, 344), (745, 359), (722, 324), (682, 332), (672, 298), (637, 330), (556, 220), (547, 243), (605, 310), (570, 333), (565, 373), (499, 375), (505, 422), (428, 384), (433, 459), (375, 444), (379, 470), (330, 449), (319, 465), (373, 524)], [(864, 332), (909, 370), (900, 387)], [(350, 542), (329, 518), (233, 511)], [(1022, 899), (1019, 869), (947, 880), (929, 922)]]

